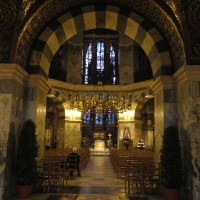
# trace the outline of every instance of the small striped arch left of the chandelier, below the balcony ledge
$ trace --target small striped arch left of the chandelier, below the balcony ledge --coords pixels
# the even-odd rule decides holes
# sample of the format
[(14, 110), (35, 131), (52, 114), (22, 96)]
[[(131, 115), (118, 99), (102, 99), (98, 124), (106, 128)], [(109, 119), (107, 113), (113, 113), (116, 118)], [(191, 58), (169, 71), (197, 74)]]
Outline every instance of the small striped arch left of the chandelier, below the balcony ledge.
[(58, 119), (65, 119), (66, 99), (62, 96), (62, 94), (54, 89), (50, 89), (48, 91), (47, 97), (52, 99), (52, 101), (55, 103), (59, 112)]

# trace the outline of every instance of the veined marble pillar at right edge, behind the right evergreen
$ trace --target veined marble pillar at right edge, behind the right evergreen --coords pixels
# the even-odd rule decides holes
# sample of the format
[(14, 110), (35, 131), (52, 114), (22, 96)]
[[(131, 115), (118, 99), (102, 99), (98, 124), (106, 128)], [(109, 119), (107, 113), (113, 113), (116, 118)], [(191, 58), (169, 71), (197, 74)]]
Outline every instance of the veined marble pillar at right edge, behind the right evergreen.
[(184, 183), (181, 199), (200, 197), (200, 65), (175, 74)]

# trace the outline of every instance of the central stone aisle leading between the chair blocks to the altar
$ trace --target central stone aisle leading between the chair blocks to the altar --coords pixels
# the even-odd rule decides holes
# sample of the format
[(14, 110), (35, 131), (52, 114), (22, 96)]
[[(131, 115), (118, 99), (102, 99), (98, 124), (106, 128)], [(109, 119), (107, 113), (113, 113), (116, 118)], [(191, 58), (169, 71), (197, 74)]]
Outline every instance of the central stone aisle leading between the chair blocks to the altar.
[[(67, 180), (64, 187), (64, 199), (76, 200), (128, 200), (124, 192), (124, 180), (118, 179), (110, 162), (105, 155), (92, 155), (81, 171), (81, 177)], [(47, 200), (58, 200), (50, 195)]]

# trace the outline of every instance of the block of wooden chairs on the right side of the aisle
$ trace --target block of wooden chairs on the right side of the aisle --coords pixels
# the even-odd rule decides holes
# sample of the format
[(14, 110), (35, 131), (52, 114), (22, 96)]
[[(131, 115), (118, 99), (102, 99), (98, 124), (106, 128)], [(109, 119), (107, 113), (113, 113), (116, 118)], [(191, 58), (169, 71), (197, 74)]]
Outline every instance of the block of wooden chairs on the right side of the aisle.
[(111, 163), (119, 178), (125, 180), (128, 194), (160, 194), (160, 168), (151, 151), (113, 150)]

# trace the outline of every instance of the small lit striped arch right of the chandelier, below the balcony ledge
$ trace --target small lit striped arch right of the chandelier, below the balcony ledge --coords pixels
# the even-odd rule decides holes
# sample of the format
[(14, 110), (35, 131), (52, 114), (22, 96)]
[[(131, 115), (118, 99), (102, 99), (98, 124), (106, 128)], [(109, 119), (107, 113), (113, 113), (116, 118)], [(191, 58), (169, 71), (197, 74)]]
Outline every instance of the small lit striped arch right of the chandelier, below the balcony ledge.
[(150, 98), (153, 98), (152, 90), (147, 90), (134, 97), (135, 120), (141, 120), (142, 109)]

